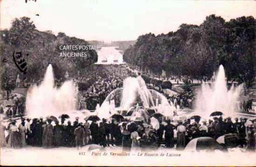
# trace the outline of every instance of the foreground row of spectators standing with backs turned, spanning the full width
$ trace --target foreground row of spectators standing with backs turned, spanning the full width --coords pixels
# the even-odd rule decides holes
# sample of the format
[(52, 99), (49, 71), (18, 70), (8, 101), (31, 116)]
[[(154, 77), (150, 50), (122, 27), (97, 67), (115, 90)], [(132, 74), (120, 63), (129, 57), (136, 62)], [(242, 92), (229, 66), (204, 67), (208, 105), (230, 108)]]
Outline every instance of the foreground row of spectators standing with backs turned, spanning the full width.
[[(108, 122), (103, 118), (101, 121), (82, 123), (77, 117), (73, 123), (67, 121), (67, 124), (43, 118), (34, 118), (32, 121), (29, 118), (21, 119), (19, 125), (12, 121), (7, 127), (1, 122), (1, 147), (22, 148), (30, 145), (43, 148), (81, 148), (88, 144), (99, 144), (102, 147), (119, 146), (126, 151), (159, 147), (183, 150), (189, 141), (197, 137), (209, 136), (216, 140), (225, 134), (235, 134), (238, 139), (233, 143), (235, 147), (246, 148), (246, 151), (256, 150), (256, 119), (251, 120), (252, 123), (248, 126), (246, 118), (236, 118), (235, 122), (230, 117), (222, 119), (222, 116), (209, 121), (195, 118), (191, 123), (190, 119), (174, 122), (159, 117), (157, 129), (153, 128), (150, 119), (148, 122), (118, 119), (110, 119)], [(7, 136), (5, 131), (8, 132)]]

